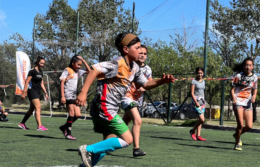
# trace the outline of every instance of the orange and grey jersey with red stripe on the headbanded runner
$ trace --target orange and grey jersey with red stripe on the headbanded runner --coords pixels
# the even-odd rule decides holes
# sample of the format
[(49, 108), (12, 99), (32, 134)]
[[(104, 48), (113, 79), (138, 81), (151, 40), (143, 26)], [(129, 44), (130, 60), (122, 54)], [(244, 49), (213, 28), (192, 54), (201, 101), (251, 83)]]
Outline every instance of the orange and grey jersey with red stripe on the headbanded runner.
[(98, 78), (96, 95), (90, 107), (92, 117), (110, 121), (118, 113), (121, 98), (131, 83), (144, 85), (148, 82), (135, 62), (130, 67), (124, 56), (92, 65)]

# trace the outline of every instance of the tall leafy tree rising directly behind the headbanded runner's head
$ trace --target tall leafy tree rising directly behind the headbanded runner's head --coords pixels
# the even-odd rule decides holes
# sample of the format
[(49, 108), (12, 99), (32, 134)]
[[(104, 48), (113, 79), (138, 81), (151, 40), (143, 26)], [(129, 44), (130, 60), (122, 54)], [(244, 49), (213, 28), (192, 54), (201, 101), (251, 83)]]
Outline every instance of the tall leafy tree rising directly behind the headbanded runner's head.
[[(123, 0), (80, 0), (80, 24), (82, 26), (81, 52), (95, 62), (108, 61), (119, 55), (114, 45), (117, 34), (131, 33), (132, 12), (123, 7)], [(135, 35), (139, 35), (135, 19)]]

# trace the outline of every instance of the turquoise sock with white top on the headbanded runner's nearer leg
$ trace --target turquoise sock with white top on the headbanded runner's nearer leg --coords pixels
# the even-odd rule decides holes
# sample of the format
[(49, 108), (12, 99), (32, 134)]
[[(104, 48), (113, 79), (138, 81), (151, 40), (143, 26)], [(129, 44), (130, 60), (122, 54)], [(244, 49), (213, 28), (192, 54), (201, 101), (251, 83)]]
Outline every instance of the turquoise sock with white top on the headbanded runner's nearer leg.
[(129, 145), (121, 138), (112, 137), (107, 140), (103, 140), (99, 143), (88, 145), (86, 150), (94, 154), (94, 157), (98, 154), (108, 153), (117, 149), (128, 147)]

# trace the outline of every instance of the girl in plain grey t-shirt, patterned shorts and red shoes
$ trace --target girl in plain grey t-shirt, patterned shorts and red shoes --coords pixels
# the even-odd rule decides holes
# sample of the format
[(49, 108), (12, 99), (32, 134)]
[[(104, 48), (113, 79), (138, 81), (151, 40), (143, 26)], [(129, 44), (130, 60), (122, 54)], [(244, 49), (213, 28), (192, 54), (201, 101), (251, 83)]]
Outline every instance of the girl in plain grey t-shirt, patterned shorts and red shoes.
[[(192, 80), (190, 84), (191, 96), (192, 96), (192, 110), (197, 114), (198, 120), (193, 129), (190, 130), (190, 135), (193, 140), (206, 141), (205, 138), (200, 136), (201, 124), (204, 123), (204, 112), (206, 101), (204, 100), (205, 81), (203, 78), (202, 67), (197, 67), (195, 70), (196, 78)], [(195, 131), (197, 130), (197, 135)]]

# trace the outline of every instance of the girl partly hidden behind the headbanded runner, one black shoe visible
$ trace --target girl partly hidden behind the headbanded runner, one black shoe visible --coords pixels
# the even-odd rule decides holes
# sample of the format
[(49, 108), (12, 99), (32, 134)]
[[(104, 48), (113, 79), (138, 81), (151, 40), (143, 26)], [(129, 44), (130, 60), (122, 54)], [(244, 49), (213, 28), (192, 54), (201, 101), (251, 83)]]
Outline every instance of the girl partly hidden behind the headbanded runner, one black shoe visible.
[[(144, 74), (144, 76), (151, 81), (152, 80), (152, 70), (151, 68), (144, 64), (147, 56), (147, 48), (145, 45), (141, 45), (141, 54), (138, 56), (138, 60), (135, 61), (138, 64), (140, 71)], [(133, 120), (133, 157), (139, 157), (146, 155), (145, 152), (140, 150), (139, 148), (139, 136), (140, 136), (140, 128), (142, 124), (142, 120), (140, 117), (139, 110), (142, 107), (142, 101), (145, 91), (144, 88), (140, 87), (138, 84), (132, 83), (126, 94), (122, 97), (121, 104), (122, 108), (125, 111), (122, 119), (128, 125), (131, 120)]]

